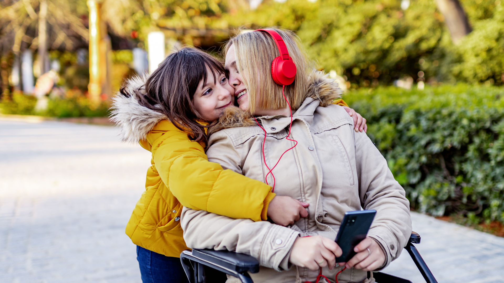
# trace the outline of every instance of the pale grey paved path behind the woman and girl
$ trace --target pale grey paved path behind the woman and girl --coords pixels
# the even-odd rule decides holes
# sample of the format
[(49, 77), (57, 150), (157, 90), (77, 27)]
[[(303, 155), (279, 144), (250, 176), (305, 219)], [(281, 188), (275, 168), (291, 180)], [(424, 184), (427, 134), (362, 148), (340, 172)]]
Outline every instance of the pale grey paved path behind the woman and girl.
[[(0, 282), (140, 283), (124, 226), (149, 152), (114, 127), (0, 120)], [(439, 283), (504, 283), (504, 238), (412, 214)], [(404, 251), (386, 272), (425, 282)]]

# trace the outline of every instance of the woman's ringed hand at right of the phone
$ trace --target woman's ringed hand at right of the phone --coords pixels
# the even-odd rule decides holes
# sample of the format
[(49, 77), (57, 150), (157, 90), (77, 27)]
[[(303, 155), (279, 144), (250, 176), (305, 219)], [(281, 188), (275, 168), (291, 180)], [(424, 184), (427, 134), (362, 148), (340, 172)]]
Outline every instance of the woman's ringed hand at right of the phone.
[[(367, 251), (367, 249), (369, 249), (369, 251)], [(385, 254), (382, 248), (370, 237), (366, 237), (362, 240), (353, 250), (357, 254), (346, 264), (340, 262), (340, 266), (345, 264), (346, 268), (355, 267), (364, 271), (372, 271), (380, 268), (385, 263)]]

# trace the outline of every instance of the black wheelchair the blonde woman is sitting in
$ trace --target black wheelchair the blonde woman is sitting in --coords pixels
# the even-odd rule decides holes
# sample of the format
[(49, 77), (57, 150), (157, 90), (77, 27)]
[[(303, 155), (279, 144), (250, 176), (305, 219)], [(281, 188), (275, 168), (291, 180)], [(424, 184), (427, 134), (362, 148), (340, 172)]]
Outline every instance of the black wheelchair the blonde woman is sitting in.
[[(420, 235), (413, 232), (404, 247), (416, 266), (422, 273), (427, 283), (437, 283), (429, 267), (420, 256), (413, 244), (420, 244)], [(216, 251), (210, 249), (185, 250), (180, 254), (182, 267), (191, 283), (214, 283), (216, 280), (207, 278), (207, 274), (216, 274), (220, 271), (234, 277), (238, 277), (242, 283), (253, 283), (250, 273), (259, 272), (259, 261), (246, 254), (230, 251)], [(209, 272), (210, 271), (210, 272)], [(369, 272), (368, 272), (369, 274)], [(369, 276), (369, 275), (368, 275)], [(209, 276), (210, 277), (210, 276)], [(373, 272), (376, 283), (412, 283), (408, 279), (397, 277), (383, 272)]]

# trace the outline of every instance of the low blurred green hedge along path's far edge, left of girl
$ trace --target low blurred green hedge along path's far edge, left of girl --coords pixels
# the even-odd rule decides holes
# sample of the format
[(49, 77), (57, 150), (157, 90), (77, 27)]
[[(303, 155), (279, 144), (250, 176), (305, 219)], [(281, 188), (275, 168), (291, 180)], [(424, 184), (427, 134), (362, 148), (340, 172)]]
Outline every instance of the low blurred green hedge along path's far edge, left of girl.
[(35, 112), (37, 99), (22, 93), (13, 93), (12, 97), (0, 101), (0, 113), (19, 115), (41, 115), (49, 117), (105, 117), (109, 113), (109, 105), (104, 101), (97, 108), (90, 107), (85, 96), (67, 98), (50, 98), (47, 110)]

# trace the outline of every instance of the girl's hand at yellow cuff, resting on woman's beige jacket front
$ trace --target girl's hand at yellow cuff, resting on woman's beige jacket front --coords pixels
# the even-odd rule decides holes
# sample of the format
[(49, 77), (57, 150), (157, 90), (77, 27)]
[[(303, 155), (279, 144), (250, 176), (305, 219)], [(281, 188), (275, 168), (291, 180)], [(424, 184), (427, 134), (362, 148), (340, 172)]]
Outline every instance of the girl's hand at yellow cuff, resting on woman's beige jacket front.
[(301, 202), (290, 196), (276, 195), (268, 204), (267, 216), (275, 224), (288, 226), (294, 224), (299, 218), (307, 217), (308, 203)]

